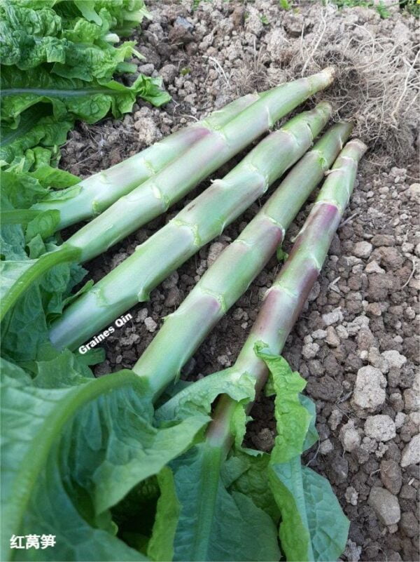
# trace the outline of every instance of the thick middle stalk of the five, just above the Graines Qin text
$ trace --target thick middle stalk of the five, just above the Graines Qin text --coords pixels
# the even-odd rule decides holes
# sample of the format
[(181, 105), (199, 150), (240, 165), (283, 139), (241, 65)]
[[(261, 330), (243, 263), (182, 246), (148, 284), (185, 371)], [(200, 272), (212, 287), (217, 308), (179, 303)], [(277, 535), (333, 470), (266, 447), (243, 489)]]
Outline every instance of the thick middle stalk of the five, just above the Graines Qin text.
[[(160, 281), (221, 234), (304, 153), (329, 114), (330, 106), (321, 103), (265, 138), (223, 180), (216, 180), (127, 260), (73, 302), (52, 326), (52, 343), (59, 348), (76, 347), (137, 302), (147, 300)], [(334, 140), (330, 142), (335, 148), (337, 138), (345, 139), (348, 135), (349, 126), (341, 124), (334, 131), (330, 135)], [(311, 161), (319, 158), (317, 154), (314, 152)], [(319, 169), (322, 174), (322, 168)]]

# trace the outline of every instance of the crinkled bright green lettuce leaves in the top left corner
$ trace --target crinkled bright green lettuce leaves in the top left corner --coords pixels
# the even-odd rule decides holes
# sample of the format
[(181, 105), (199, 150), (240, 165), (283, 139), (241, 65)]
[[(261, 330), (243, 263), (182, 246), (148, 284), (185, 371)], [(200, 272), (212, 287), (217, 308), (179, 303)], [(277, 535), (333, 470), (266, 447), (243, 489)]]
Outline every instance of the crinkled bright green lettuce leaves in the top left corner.
[(1, 159), (23, 157), (27, 171), (28, 151), (42, 146), (56, 164), (56, 147), (74, 119), (94, 123), (109, 111), (118, 117), (138, 95), (157, 106), (167, 102), (160, 79), (141, 75), (132, 86), (113, 79), (137, 69), (126, 62), (141, 58), (134, 43), (115, 44), (144, 17), (144, 0), (3, 0)]

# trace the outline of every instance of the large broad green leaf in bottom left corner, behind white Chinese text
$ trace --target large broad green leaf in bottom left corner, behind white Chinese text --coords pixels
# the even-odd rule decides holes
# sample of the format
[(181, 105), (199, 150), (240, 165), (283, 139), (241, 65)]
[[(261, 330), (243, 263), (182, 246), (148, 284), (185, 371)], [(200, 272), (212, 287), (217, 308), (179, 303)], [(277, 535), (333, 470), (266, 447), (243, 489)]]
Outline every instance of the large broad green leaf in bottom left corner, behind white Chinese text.
[(151, 393), (130, 371), (99, 380), (71, 375), (73, 386), (51, 388), (76, 368), (69, 358), (62, 354), (55, 370), (38, 363), (35, 381), (48, 388), (13, 379), (13, 369), (2, 373), (1, 559), (14, 554), (12, 534), (36, 529), (57, 544), (22, 552), (23, 560), (143, 560), (116, 538), (109, 508), (183, 453), (207, 417), (154, 427)]

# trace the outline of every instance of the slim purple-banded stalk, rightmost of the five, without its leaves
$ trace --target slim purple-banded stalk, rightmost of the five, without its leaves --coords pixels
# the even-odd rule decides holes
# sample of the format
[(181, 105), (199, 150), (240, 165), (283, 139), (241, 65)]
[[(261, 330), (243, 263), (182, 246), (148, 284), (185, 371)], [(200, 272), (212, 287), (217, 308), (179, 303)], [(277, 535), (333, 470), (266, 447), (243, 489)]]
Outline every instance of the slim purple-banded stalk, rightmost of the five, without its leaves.
[[(265, 384), (268, 373), (264, 361), (255, 355), (255, 343), (262, 341), (268, 345), (270, 353), (281, 353), (321, 271), (332, 236), (353, 191), (358, 161), (365, 150), (363, 142), (351, 140), (339, 154), (297, 236), (288, 260), (265, 294), (262, 308), (234, 366), (238, 373), (246, 371), (255, 377), (257, 392)], [(230, 447), (230, 423), (234, 405), (235, 402), (228, 396), (223, 396), (216, 406), (214, 422), (210, 424), (207, 433), (210, 443)]]

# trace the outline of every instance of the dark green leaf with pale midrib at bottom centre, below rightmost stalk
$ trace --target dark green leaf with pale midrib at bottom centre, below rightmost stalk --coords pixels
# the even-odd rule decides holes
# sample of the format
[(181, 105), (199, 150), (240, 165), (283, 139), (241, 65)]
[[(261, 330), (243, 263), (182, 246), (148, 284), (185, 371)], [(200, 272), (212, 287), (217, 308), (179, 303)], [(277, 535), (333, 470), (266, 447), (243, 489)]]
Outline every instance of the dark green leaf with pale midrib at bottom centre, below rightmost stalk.
[(279, 560), (272, 519), (246, 495), (224, 486), (223, 452), (200, 443), (171, 463), (181, 504), (174, 560)]

